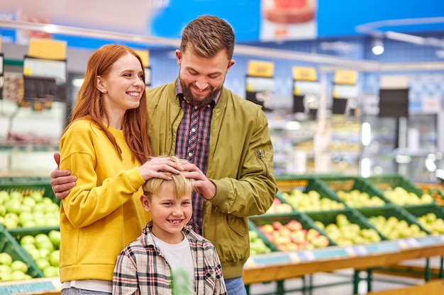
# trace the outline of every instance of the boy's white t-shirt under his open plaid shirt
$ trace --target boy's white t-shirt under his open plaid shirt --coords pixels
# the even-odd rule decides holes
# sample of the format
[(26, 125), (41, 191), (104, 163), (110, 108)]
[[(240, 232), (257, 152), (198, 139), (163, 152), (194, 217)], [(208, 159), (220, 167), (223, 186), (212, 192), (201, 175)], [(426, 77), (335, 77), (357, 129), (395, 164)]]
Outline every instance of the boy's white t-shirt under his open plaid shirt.
[(153, 235), (157, 247), (162, 251), (171, 267), (173, 294), (189, 295), (194, 293), (194, 263), (192, 250), (186, 236), (182, 242), (169, 244)]

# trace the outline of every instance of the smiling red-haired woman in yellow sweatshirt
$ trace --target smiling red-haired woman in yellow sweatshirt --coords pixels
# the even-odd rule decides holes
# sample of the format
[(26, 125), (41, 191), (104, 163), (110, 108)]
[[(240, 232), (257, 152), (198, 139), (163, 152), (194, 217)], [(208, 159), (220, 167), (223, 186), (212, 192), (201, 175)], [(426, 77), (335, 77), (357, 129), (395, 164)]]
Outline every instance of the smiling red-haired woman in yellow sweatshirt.
[(150, 219), (141, 185), (180, 170), (167, 157), (147, 161), (145, 74), (129, 47), (105, 45), (89, 58), (60, 154), (60, 168), (77, 175), (60, 209), (62, 294), (111, 294), (118, 253)]

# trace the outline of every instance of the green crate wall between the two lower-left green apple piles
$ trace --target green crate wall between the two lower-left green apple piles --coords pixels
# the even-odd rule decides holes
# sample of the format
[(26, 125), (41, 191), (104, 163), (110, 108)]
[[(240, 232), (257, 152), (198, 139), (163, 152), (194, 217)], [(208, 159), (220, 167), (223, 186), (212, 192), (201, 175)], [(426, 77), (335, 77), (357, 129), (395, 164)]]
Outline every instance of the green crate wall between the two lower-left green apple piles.
[(8, 253), (13, 260), (21, 260), (28, 265), (28, 274), (33, 278), (45, 277), (43, 272), (35, 265), (35, 262), (26, 250), (7, 231), (0, 231), (0, 253)]

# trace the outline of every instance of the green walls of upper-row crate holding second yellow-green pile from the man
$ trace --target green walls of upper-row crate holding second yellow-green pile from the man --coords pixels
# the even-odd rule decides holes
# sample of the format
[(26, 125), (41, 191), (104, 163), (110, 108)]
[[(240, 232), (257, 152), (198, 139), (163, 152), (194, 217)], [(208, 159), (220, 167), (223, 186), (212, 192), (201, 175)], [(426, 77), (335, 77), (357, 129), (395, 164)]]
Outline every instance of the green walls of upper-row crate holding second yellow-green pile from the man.
[(360, 192), (366, 192), (370, 197), (379, 197), (385, 204), (392, 204), (389, 199), (384, 197), (381, 191), (377, 190), (377, 188), (365, 178), (345, 175), (321, 175), (319, 176), (319, 179), (335, 192), (338, 192), (338, 190), (343, 190), (345, 192), (359, 190)]

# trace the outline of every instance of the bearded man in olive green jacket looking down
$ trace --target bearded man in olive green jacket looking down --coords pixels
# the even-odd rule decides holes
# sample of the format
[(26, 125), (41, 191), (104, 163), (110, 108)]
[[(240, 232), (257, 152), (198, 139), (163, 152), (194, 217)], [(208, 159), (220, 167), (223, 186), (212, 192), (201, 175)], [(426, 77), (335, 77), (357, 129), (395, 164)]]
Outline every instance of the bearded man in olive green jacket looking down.
[[(199, 16), (182, 32), (176, 81), (147, 91), (153, 153), (190, 162), (184, 165), (196, 187), (190, 224), (216, 246), (229, 295), (246, 294), (247, 217), (267, 212), (277, 192), (265, 113), (223, 88), (234, 43), (226, 21)], [(58, 198), (75, 185), (66, 170), (56, 168), (51, 177)]]

